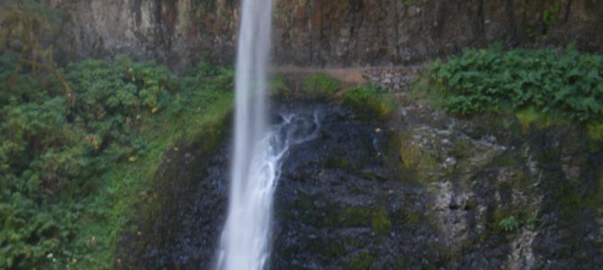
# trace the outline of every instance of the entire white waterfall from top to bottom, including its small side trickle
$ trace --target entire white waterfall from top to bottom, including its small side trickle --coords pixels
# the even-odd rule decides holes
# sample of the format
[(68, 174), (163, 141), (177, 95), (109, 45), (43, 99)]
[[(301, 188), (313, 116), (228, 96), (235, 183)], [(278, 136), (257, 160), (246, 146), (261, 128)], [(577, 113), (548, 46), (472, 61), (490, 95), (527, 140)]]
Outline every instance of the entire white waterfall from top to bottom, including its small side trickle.
[(243, 0), (229, 213), (220, 238), (218, 270), (266, 269), (281, 160), (293, 144), (313, 138), (318, 130), (316, 113), (313, 117), (282, 115), (268, 129), (266, 64), (271, 18), (271, 0)]

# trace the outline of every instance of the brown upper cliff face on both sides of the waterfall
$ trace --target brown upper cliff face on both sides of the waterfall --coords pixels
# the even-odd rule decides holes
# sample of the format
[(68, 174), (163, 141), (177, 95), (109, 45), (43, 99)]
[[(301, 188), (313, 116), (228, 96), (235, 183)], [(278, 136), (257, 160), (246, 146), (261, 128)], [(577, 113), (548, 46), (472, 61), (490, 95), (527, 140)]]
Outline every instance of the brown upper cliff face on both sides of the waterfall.
[[(236, 0), (48, 0), (68, 16), (65, 57), (129, 54), (173, 67), (231, 63)], [(603, 49), (603, 1), (276, 0), (274, 57), (282, 65), (397, 65), (465, 46), (575, 42)]]

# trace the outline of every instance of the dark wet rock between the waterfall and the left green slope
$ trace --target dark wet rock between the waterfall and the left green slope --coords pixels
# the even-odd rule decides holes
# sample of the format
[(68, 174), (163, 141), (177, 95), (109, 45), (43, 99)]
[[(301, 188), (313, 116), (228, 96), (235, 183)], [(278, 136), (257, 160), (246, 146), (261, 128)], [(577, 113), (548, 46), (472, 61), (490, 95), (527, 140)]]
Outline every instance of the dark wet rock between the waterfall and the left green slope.
[[(228, 207), (229, 147), (170, 149), (117, 248), (118, 269), (211, 269)], [(223, 140), (223, 139), (220, 139)]]

